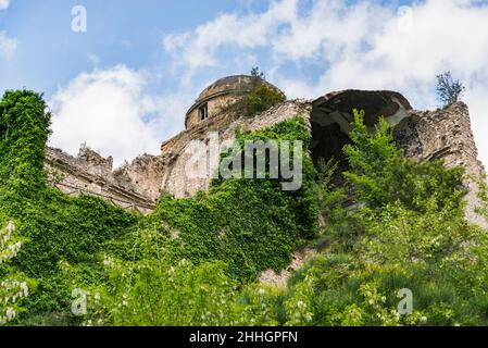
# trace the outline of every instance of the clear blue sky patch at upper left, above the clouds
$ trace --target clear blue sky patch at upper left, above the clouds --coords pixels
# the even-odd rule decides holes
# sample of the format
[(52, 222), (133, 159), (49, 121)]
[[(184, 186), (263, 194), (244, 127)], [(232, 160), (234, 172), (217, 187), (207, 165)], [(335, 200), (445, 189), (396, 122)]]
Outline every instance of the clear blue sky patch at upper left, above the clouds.
[[(72, 8), (84, 5), (88, 30), (71, 30)], [(230, 1), (13, 0), (0, 12), (0, 30), (18, 40), (14, 60), (2, 62), (0, 88), (27, 86), (50, 96), (80, 72), (124, 63), (133, 69), (168, 64), (161, 50), (164, 33), (210, 21), (223, 11), (246, 11)], [(7, 77), (7, 78), (5, 78)], [(171, 87), (171, 86), (168, 86)]]

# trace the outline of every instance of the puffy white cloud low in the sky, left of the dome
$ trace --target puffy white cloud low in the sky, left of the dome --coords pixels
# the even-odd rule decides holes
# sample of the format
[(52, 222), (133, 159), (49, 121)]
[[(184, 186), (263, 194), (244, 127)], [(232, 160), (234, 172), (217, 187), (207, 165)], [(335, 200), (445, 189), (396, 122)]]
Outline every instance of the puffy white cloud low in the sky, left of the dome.
[(143, 152), (159, 153), (164, 137), (178, 129), (183, 120), (171, 113), (178, 99), (163, 109), (166, 100), (149, 95), (146, 82), (143, 72), (125, 65), (74, 78), (49, 101), (53, 111), (50, 146), (76, 154), (86, 141), (102, 156), (112, 156), (115, 165)]

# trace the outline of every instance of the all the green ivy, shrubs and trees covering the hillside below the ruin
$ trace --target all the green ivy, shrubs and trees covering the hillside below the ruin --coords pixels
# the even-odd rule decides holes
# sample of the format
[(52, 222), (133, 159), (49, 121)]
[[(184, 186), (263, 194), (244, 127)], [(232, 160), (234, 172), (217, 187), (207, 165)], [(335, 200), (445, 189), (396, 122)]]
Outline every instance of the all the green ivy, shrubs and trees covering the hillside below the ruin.
[[(404, 159), (385, 122), (370, 135), (355, 113), (343, 187), (331, 184), (337, 163), (316, 170), (306, 156), (298, 191), (278, 179), (215, 179), (141, 216), (46, 185), (46, 110), (26, 90), (0, 102), (0, 279), (23, 291), (1, 301), (15, 288), (0, 288), (4, 323), (488, 324), (488, 239), (464, 219), (463, 170)], [(306, 149), (310, 135), (296, 117), (237, 139)], [(304, 246), (322, 251), (286, 287), (256, 282)], [(398, 310), (401, 289), (411, 313)]]

